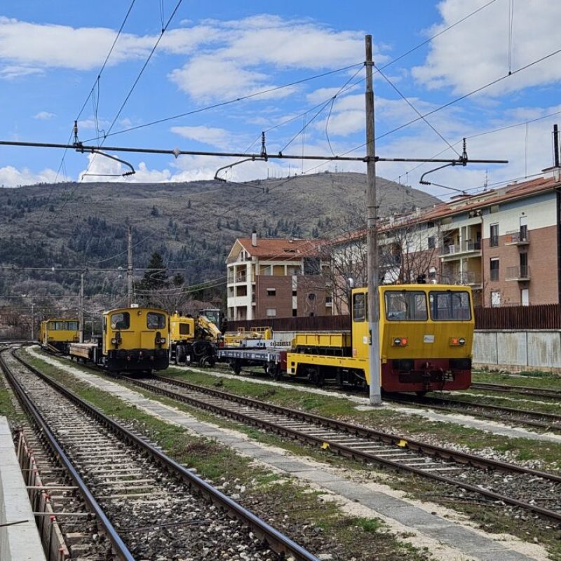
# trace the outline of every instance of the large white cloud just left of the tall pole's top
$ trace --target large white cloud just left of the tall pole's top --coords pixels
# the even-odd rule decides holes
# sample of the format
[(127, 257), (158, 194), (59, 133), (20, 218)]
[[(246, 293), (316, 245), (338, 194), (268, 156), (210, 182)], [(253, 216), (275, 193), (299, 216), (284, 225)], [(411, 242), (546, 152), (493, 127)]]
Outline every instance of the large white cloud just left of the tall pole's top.
[[(273, 73), (286, 69), (320, 71), (360, 64), (364, 58), (363, 34), (335, 32), (315, 22), (265, 14), (238, 21), (208, 20), (205, 29), (212, 29), (208, 35), (212, 55), (195, 53), (169, 74), (171, 81), (196, 100), (224, 100), (273, 88), (278, 81)], [(386, 60), (381, 55), (380, 59)], [(269, 97), (293, 91), (283, 88)]]

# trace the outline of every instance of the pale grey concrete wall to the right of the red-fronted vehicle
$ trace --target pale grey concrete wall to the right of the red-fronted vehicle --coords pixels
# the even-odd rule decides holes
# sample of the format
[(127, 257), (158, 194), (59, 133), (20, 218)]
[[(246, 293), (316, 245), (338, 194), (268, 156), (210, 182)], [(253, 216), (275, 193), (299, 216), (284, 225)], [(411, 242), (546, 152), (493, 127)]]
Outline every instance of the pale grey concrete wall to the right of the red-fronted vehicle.
[(473, 363), (561, 373), (561, 330), (476, 330)]

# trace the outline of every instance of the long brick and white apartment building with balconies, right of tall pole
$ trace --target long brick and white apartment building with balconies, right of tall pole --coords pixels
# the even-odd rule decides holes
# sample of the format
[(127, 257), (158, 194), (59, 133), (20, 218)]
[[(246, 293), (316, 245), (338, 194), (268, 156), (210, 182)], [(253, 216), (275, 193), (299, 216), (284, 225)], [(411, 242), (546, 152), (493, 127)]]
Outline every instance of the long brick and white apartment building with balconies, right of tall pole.
[[(471, 286), (476, 306), (561, 302), (560, 168), (379, 222), (381, 283)], [(365, 232), (341, 241), (362, 243)], [(337, 242), (336, 242), (337, 244)]]

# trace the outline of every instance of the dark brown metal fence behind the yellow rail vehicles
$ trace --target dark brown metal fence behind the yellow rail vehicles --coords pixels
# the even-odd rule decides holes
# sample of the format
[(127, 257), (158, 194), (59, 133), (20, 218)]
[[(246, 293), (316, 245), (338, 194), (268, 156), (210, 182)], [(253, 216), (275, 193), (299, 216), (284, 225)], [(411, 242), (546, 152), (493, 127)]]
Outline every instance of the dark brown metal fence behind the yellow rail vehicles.
[[(237, 331), (239, 327), (245, 330), (251, 330), (252, 327), (271, 327), (273, 331), (292, 332), (340, 331), (351, 329), (351, 318), (344, 315), (228, 322), (228, 331)], [(561, 329), (561, 304), (475, 308), (475, 329)]]

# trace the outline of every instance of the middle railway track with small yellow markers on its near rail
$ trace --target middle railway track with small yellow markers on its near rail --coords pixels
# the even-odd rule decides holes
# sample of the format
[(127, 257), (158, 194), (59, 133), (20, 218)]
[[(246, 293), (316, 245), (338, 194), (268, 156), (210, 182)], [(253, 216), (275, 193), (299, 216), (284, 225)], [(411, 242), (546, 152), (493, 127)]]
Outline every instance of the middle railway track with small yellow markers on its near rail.
[[(400, 435), (289, 410), (165, 377), (127, 380), (135, 386), (288, 436), (336, 454), (408, 471), (473, 497), (524, 508), (561, 522), (561, 476), (448, 450)], [(462, 496), (465, 496), (462, 495)], [(547, 508), (542, 506), (547, 505)]]

